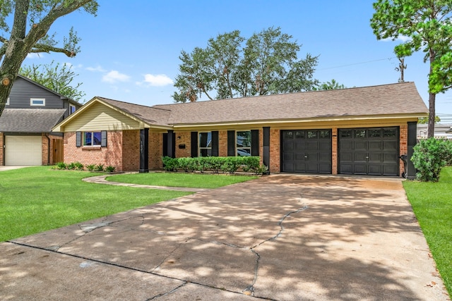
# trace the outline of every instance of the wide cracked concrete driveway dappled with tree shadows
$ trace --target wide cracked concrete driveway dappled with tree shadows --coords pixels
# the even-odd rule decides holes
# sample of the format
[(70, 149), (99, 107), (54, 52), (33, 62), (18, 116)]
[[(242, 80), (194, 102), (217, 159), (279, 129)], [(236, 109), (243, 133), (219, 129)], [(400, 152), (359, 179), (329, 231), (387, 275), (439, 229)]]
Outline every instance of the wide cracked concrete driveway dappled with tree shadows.
[(399, 179), (267, 176), (0, 254), (1, 300), (448, 300)]

